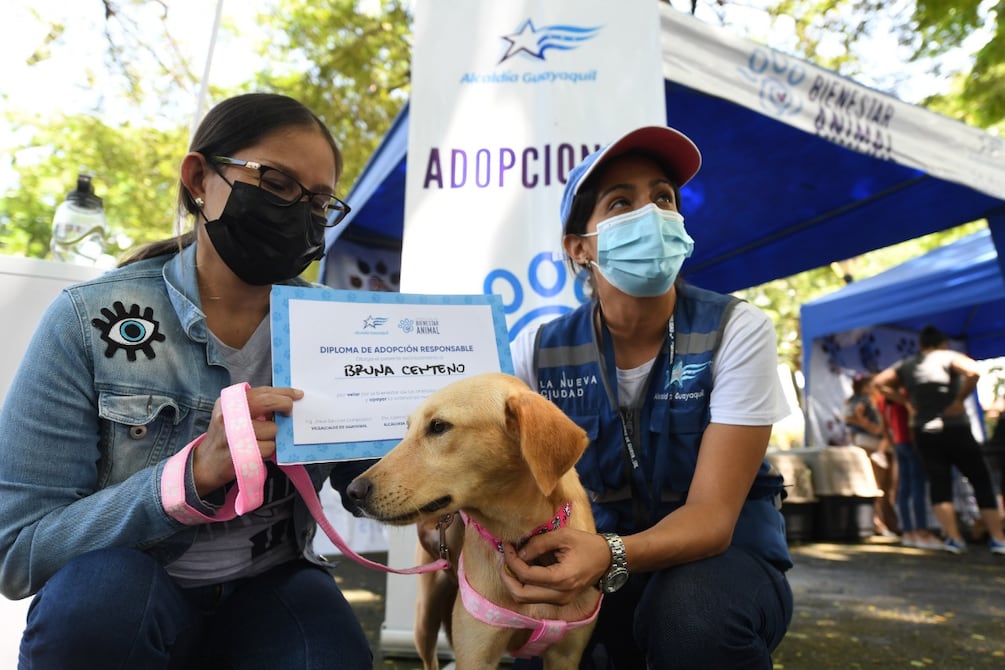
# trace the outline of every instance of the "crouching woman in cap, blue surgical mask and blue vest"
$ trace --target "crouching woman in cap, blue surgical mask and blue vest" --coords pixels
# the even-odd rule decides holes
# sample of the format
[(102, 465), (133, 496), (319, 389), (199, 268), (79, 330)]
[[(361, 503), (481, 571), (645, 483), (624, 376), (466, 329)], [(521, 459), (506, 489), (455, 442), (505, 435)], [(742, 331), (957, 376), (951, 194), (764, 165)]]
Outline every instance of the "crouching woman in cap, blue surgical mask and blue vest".
[[(509, 546), (502, 578), (521, 602), (604, 593), (584, 668), (770, 669), (792, 617), (782, 478), (765, 461), (788, 414), (774, 327), (677, 276), (693, 246), (680, 187), (699, 165), (685, 136), (648, 127), (577, 166), (563, 243), (592, 299), (513, 345), (517, 375), (590, 436), (576, 467), (597, 534)], [(570, 379), (575, 393), (555, 392)]]

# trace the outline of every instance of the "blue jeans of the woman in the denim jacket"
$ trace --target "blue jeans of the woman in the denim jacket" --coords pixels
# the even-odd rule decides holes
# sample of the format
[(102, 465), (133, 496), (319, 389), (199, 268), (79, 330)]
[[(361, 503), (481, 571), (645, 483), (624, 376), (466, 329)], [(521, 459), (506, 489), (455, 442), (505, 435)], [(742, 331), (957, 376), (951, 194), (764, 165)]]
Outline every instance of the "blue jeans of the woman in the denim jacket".
[(291, 562), (181, 589), (145, 553), (85, 553), (35, 596), (20, 670), (372, 668), (363, 628), (326, 571)]

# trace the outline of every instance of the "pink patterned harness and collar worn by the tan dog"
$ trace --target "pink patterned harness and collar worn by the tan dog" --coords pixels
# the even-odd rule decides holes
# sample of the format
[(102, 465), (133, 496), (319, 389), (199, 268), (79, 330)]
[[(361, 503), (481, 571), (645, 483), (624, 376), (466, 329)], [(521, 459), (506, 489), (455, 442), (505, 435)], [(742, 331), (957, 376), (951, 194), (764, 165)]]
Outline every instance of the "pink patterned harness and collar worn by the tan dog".
[[(568, 522), (571, 514), (572, 503), (563, 503), (562, 506), (559, 507), (559, 510), (555, 512), (555, 516), (552, 517), (551, 521), (532, 530), (523, 540), (521, 540), (520, 544), (526, 544), (527, 541), (534, 535), (561, 528), (566, 524), (566, 522)], [(495, 547), (495, 550), (499, 553), (499, 561), (501, 561), (504, 545), (502, 540), (485, 530), (480, 523), (470, 518), (463, 510), (460, 511), (460, 517), (464, 520), (465, 525), (469, 524), (472, 528), (477, 530), (478, 534), (484, 537), (489, 544)], [(495, 626), (497, 628), (519, 628), (534, 631), (531, 634), (530, 639), (523, 647), (517, 651), (510, 652), (510, 655), (514, 658), (535, 658), (541, 656), (546, 649), (564, 638), (568, 631), (593, 623), (593, 621), (596, 620), (597, 615), (600, 614), (600, 603), (603, 601), (603, 595), (601, 595), (601, 597), (597, 599), (597, 607), (594, 608), (593, 614), (580, 621), (568, 622), (561, 619), (534, 619), (533, 617), (527, 617), (519, 612), (508, 610), (505, 607), (500, 607), (495, 603), (492, 603), (471, 587), (471, 583), (467, 581), (467, 574), (464, 572), (463, 552), (461, 552), (457, 559), (457, 585), (460, 589), (460, 600), (464, 604), (464, 609), (467, 610), (469, 615), (481, 623), (488, 624), (489, 626)]]

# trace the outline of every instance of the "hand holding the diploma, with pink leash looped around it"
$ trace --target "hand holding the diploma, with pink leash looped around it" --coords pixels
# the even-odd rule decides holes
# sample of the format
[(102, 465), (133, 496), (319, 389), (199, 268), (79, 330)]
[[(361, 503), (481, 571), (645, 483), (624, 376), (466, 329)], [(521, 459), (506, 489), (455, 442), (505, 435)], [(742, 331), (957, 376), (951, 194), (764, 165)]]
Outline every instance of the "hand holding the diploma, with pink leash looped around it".
[[(288, 415), (292, 412), (293, 401), (303, 398), (304, 392), (299, 389), (262, 386), (249, 389), (247, 396), (258, 450), (262, 458), (269, 458), (275, 453), (275, 435), (278, 432), (273, 420), (275, 414)], [(236, 477), (219, 399), (213, 406), (213, 416), (210, 418), (206, 437), (193, 452), (192, 476), (200, 497)]]

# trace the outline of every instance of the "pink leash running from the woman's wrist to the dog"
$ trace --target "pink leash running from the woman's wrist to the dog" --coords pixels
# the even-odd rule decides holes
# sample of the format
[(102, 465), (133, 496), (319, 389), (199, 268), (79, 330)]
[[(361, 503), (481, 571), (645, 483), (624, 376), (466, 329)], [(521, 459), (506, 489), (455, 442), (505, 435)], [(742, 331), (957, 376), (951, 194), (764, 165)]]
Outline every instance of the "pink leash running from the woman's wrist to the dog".
[[(264, 500), (265, 486), (265, 463), (262, 460), (261, 452), (258, 451), (258, 441), (254, 436), (254, 428), (251, 423), (251, 412), (248, 409), (247, 389), (250, 385), (235, 384), (227, 387), (220, 393), (221, 407), (223, 409), (223, 425), (227, 433), (227, 442), (230, 445), (230, 457), (234, 461), (234, 473), (237, 475), (235, 485), (227, 492), (223, 505), (213, 516), (207, 516), (202, 512), (189, 506), (185, 501), (185, 467), (188, 464), (188, 452), (202, 442), (205, 435), (200, 435), (175, 456), (168, 459), (165, 464), (164, 473), (161, 476), (161, 497), (164, 501), (165, 511), (173, 518), (185, 523), (195, 525), (207, 521), (228, 521), (236, 516), (246, 514), (257, 509)], [(270, 460), (275, 460), (274, 458)], [(431, 573), (437, 570), (445, 570), (450, 567), (450, 562), (446, 553), (446, 541), (444, 531), (449, 525), (449, 520), (453, 515), (444, 516), (437, 527), (440, 530), (440, 556), (432, 563), (424, 566), (416, 566), (405, 570), (391, 568), (384, 564), (375, 563), (366, 559), (345, 542), (335, 527), (325, 516), (318, 492), (311, 481), (311, 475), (303, 465), (279, 465), (285, 475), (292, 482), (299, 492), (304, 502), (307, 503), (311, 515), (332, 543), (335, 544), (349, 559), (352, 559), (361, 566), (374, 570), (396, 575), (415, 575), (418, 573)]]

